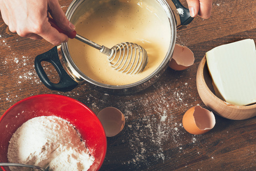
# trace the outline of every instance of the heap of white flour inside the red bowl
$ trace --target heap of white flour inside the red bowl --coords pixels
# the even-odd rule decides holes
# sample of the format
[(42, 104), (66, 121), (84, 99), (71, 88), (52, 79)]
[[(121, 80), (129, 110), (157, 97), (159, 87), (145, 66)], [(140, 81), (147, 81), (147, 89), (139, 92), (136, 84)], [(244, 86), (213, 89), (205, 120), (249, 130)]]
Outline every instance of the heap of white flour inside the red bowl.
[(22, 124), (11, 137), (7, 157), (9, 162), (50, 166), (49, 170), (88, 170), (94, 163), (74, 126), (56, 116), (34, 117)]

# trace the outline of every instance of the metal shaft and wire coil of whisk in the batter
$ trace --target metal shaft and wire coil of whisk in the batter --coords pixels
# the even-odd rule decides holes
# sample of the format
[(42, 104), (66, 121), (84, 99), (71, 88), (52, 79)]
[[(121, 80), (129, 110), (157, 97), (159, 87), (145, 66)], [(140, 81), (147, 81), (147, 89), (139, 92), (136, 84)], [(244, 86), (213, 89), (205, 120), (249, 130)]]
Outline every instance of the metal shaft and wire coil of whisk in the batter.
[(101, 53), (107, 55), (108, 62), (115, 70), (125, 74), (138, 74), (144, 70), (148, 63), (147, 51), (136, 43), (123, 42), (110, 49), (78, 34), (75, 35), (75, 39), (100, 50)]

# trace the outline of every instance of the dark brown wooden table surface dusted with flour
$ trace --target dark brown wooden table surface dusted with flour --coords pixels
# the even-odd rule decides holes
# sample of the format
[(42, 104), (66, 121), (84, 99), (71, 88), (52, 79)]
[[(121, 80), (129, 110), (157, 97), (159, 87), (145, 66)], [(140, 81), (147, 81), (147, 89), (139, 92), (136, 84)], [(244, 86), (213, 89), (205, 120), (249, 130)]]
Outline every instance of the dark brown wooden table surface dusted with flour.
[[(71, 0), (59, 2), (66, 11)], [(46, 88), (34, 69), (35, 56), (53, 46), (11, 33), (0, 17), (0, 116), (26, 97), (64, 95), (95, 113), (112, 106), (125, 115), (123, 131), (107, 138), (101, 170), (255, 170), (255, 117), (236, 121), (216, 115), (215, 127), (204, 135), (191, 135), (182, 127), (182, 116), (190, 107), (205, 107), (196, 88), (197, 67), (205, 52), (246, 38), (256, 40), (256, 1), (216, 0), (209, 19), (197, 17), (177, 31), (176, 42), (194, 52), (194, 65), (187, 70), (168, 68), (158, 82), (135, 95), (109, 95), (88, 83), (58, 92)], [(48, 64), (46, 70), (55, 73)]]

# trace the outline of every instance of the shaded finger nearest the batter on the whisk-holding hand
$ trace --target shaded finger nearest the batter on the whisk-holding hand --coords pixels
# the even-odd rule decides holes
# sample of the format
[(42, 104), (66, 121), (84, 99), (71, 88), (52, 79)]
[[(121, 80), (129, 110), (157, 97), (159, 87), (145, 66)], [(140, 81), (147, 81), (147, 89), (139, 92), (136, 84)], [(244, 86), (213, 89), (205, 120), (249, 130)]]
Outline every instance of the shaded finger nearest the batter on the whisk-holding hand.
[(48, 11), (56, 22), (56, 25), (58, 25), (60, 28), (68, 32), (75, 30), (75, 26), (70, 21), (68, 21), (64, 11), (59, 5), (58, 0), (48, 1)]

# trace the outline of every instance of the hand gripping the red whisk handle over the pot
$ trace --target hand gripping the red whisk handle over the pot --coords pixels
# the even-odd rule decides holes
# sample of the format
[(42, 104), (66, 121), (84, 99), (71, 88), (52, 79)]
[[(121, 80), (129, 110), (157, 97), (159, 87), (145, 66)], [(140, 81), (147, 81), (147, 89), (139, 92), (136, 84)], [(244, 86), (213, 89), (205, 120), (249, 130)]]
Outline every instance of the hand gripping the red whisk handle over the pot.
[(0, 0), (3, 21), (11, 32), (31, 39), (45, 39), (58, 45), (68, 37), (48, 22), (48, 14), (62, 30), (74, 31), (75, 26), (66, 18), (58, 0)]

